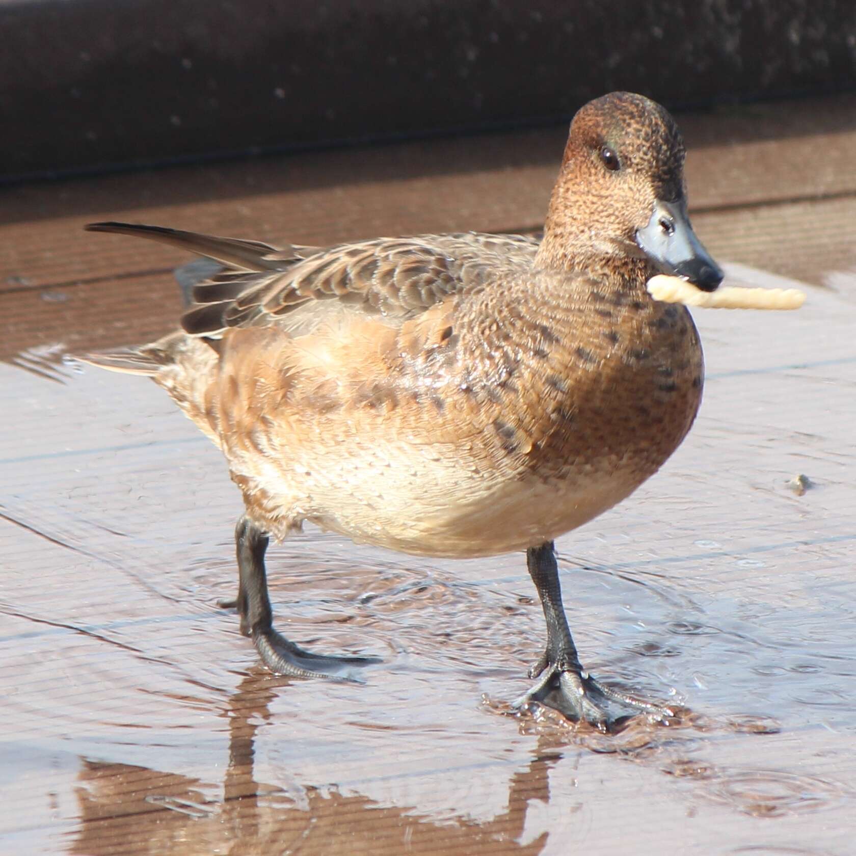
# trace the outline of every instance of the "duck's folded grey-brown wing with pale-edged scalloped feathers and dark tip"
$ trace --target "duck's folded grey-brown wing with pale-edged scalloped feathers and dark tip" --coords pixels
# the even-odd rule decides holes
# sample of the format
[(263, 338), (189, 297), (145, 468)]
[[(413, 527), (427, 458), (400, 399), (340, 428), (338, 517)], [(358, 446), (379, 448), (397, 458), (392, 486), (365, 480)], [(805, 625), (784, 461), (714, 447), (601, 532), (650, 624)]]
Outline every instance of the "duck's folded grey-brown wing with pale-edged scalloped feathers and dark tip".
[(301, 335), (343, 311), (401, 323), (452, 294), (488, 284), (497, 265), (531, 265), (538, 249), (529, 237), (478, 233), (277, 249), (128, 223), (86, 228), (163, 241), (226, 265), (193, 285), (193, 304), (181, 318), (188, 335), (209, 340), (238, 327)]

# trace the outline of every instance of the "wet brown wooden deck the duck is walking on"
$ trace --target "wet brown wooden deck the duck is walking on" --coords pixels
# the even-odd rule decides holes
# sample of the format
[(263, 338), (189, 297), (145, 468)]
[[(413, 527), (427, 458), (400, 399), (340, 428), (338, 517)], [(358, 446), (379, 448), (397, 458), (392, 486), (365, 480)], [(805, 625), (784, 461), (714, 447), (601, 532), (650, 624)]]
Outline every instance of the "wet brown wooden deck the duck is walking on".
[[(186, 256), (87, 222), (306, 244), (534, 231), (565, 128), (3, 192), (0, 853), (852, 852), (856, 97), (678, 118), (705, 245), (809, 300), (696, 312), (709, 382), (693, 434), (559, 545), (590, 661), (674, 686), (701, 717), (611, 743), (479, 705), (522, 690), (540, 639), (519, 556), (298, 538), (275, 554), (277, 612), (389, 674), (266, 675), (213, 607), (239, 510), (216, 451), (153, 384), (60, 360), (159, 336), (179, 312)], [(797, 473), (805, 496), (784, 484)], [(497, 641), (473, 653), (479, 628)]]

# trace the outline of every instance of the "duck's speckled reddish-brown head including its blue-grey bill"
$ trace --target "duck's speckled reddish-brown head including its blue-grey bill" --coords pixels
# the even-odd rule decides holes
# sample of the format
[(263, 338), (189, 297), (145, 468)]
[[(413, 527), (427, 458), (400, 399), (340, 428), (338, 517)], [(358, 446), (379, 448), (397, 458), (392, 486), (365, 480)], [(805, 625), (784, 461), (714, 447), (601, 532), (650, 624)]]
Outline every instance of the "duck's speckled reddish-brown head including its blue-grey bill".
[(684, 142), (660, 104), (611, 92), (580, 108), (544, 225), (541, 261), (647, 259), (703, 291), (722, 270), (687, 216)]

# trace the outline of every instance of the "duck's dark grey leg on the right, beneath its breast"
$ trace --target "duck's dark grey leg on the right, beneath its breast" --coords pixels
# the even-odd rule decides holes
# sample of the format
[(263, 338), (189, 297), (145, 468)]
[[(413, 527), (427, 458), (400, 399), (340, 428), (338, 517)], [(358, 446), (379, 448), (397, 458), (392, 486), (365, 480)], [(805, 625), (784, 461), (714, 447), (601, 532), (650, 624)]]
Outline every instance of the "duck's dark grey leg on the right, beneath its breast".
[(609, 729), (609, 714), (603, 706), (606, 700), (660, 718), (672, 716), (672, 711), (660, 704), (652, 704), (604, 686), (583, 669), (562, 606), (562, 588), (559, 585), (553, 542), (548, 541), (526, 550), (526, 565), (544, 607), (547, 648), (529, 671), (531, 678), (541, 677), (531, 690), (514, 702), (514, 706), (521, 707), (527, 702), (538, 701), (560, 710), (572, 719), (584, 719), (602, 731)]

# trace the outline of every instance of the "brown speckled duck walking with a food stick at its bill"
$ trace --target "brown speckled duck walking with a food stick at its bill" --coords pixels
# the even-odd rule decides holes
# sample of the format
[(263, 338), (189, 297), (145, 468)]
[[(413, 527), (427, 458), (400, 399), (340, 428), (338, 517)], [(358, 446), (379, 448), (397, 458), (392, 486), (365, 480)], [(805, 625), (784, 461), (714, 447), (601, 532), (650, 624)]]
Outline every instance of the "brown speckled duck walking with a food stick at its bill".
[[(631, 92), (570, 125), (543, 237), (477, 232), (287, 245), (132, 223), (86, 229), (212, 259), (181, 328), (82, 355), (151, 377), (223, 452), (241, 633), (276, 674), (359, 680), (377, 657), (309, 651), (274, 627), (270, 539), (309, 522), (413, 556), (526, 552), (546, 639), (537, 702), (607, 730), (615, 705), (671, 716), (583, 668), (556, 538), (657, 473), (698, 413), (704, 358), (656, 273), (722, 282), (687, 215), (685, 146)], [(625, 716), (627, 718), (627, 716)]]

